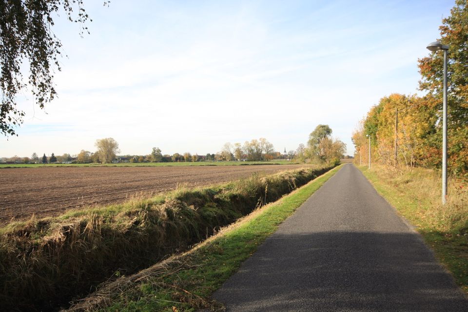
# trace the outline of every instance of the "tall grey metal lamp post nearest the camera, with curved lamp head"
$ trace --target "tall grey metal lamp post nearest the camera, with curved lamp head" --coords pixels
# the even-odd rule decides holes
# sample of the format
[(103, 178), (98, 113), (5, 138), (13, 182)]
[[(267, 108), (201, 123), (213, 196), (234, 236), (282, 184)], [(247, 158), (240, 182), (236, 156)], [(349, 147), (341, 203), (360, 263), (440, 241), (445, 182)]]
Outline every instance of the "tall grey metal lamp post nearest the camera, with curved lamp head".
[(427, 46), (429, 51), (444, 51), (444, 99), (442, 117), (442, 204), (447, 201), (447, 52), (448, 45), (434, 41)]

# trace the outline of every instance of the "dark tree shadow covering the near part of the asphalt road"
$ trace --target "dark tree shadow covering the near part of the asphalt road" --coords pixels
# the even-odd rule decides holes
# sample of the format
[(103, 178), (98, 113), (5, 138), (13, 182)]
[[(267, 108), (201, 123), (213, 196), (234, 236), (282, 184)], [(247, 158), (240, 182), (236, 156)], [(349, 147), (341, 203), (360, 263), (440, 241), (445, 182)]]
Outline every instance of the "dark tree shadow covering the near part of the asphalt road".
[(276, 234), (214, 297), (227, 311), (468, 311), (413, 233)]

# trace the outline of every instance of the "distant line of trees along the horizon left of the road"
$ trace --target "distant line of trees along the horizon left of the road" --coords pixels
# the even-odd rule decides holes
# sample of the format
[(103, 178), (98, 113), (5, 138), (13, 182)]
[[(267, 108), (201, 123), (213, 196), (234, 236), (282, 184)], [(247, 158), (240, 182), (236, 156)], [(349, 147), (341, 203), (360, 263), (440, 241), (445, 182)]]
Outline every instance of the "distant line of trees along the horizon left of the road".
[(117, 156), (120, 152), (117, 141), (112, 137), (96, 140), (95, 152), (81, 150), (77, 155), (63, 154), (39, 157), (33, 153), (31, 158), (14, 156), (3, 158), (3, 161), (22, 163), (112, 163), (112, 162), (196, 162), (196, 161), (268, 161), (273, 159), (288, 159), (297, 162), (337, 163), (346, 151), (346, 144), (331, 137), (328, 125), (318, 125), (310, 134), (307, 147), (299, 147), (286, 153), (275, 151), (274, 146), (266, 138), (252, 139), (240, 143), (225, 143), (221, 151), (215, 154), (197, 155), (185, 152), (172, 155), (162, 154), (158, 147), (153, 147), (148, 155)]

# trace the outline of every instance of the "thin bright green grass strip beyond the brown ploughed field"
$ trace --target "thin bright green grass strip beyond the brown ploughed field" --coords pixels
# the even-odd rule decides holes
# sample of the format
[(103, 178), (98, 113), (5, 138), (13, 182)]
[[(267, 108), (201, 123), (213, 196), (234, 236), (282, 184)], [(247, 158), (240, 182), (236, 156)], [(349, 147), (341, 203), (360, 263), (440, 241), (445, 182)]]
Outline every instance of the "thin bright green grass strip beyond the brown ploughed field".
[(290, 160), (272, 161), (198, 161), (198, 162), (125, 162), (118, 164), (0, 164), (2, 168), (46, 168), (46, 167), (185, 167), (185, 166), (248, 166), (248, 165), (291, 165)]

